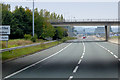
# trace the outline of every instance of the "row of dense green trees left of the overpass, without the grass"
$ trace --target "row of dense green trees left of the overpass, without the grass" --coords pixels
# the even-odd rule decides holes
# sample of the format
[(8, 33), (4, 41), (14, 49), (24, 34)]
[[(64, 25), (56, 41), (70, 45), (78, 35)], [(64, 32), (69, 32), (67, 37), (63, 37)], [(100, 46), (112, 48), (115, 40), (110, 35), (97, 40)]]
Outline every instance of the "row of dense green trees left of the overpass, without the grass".
[[(2, 25), (10, 25), (10, 39), (24, 38), (25, 34), (32, 35), (32, 10), (28, 7), (16, 6), (14, 11), (10, 10), (9, 4), (2, 5)], [(63, 15), (50, 13), (46, 9), (34, 10), (35, 34), (39, 39), (62, 39), (68, 36), (67, 29), (53, 27), (50, 21), (63, 21)]]

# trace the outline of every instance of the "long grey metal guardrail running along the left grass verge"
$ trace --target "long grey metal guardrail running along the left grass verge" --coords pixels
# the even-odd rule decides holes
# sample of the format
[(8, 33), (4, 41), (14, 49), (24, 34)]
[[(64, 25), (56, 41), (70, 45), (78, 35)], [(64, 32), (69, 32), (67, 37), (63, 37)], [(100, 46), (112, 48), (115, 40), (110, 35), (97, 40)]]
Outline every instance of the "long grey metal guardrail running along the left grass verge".
[[(44, 44), (51, 43), (51, 42), (55, 42), (55, 41), (56, 41), (56, 40), (44, 42)], [(1, 49), (1, 50), (0, 50), (0, 53), (5, 52), (5, 51), (11, 51), (11, 50), (15, 50), (15, 49), (20, 49), (20, 48), (37, 46), (37, 45), (40, 45), (40, 44), (41, 44), (41, 43), (36, 43), (36, 44), (30, 44), (30, 45), (25, 45), (25, 46), (18, 46), (18, 47), (13, 47), (13, 48)]]

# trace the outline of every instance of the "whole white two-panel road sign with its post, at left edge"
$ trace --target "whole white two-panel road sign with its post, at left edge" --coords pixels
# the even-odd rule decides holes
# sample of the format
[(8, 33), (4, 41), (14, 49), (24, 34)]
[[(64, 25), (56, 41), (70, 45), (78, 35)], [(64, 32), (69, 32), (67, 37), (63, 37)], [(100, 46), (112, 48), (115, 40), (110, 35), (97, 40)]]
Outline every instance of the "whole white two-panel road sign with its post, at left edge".
[(10, 26), (0, 26), (0, 41), (6, 41), (6, 47), (8, 47), (8, 35), (10, 35)]

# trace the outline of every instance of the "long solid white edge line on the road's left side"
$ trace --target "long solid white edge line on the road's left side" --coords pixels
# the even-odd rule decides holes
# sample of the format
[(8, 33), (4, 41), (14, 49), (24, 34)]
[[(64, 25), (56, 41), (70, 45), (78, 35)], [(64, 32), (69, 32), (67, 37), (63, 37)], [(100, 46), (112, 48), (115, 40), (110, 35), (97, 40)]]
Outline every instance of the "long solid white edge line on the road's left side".
[(44, 59), (42, 59), (42, 60), (40, 60), (40, 61), (38, 61), (38, 62), (36, 62), (36, 63), (34, 63), (34, 64), (32, 64), (32, 65), (30, 65), (30, 66), (27, 66), (27, 67), (25, 67), (25, 68), (23, 68), (23, 69), (21, 69), (21, 70), (19, 70), (19, 71), (17, 71), (17, 72), (14, 72), (14, 73), (6, 76), (4, 79), (10, 78), (10, 77), (12, 77), (12, 76), (14, 76), (14, 75), (16, 75), (16, 74), (18, 74), (18, 73), (20, 73), (20, 72), (28, 69), (28, 68), (31, 68), (31, 67), (33, 67), (33, 66), (35, 66), (35, 65), (37, 65), (37, 64), (39, 64), (39, 63), (41, 63), (41, 62), (43, 62), (43, 61), (45, 61), (45, 60), (47, 60), (47, 59), (49, 59), (49, 58), (57, 55), (58, 53), (62, 52), (62, 51), (65, 50), (66, 48), (68, 48), (71, 44), (72, 44), (72, 43), (70, 43), (69, 45), (67, 45), (66, 47), (64, 47), (63, 49), (61, 49), (60, 51), (54, 53), (53, 55), (50, 55), (50, 56), (48, 56), (48, 57), (46, 57), (46, 58), (44, 58)]

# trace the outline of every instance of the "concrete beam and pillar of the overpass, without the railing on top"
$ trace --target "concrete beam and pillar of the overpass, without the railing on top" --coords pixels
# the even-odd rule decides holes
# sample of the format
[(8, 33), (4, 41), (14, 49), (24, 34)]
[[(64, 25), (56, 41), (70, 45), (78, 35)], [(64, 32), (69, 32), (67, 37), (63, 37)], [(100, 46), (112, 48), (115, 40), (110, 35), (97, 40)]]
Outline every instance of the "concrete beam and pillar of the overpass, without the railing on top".
[(105, 22), (53, 22), (53, 26), (105, 26), (105, 37), (106, 41), (109, 39), (110, 26), (118, 26), (118, 22), (114, 21), (105, 21)]

